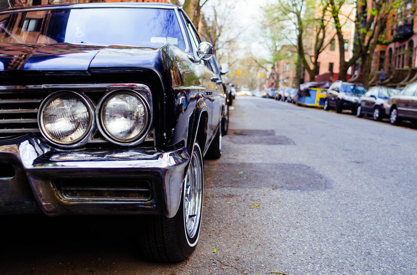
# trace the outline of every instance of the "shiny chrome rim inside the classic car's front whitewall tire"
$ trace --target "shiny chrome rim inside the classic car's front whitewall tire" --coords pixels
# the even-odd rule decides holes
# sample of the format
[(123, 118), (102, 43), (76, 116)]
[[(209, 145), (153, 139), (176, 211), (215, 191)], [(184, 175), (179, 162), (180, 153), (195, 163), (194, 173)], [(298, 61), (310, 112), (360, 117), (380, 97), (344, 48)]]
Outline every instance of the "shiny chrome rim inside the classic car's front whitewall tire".
[(201, 159), (195, 149), (184, 184), (185, 227), (187, 236), (192, 239), (197, 235), (200, 228), (203, 199)]

